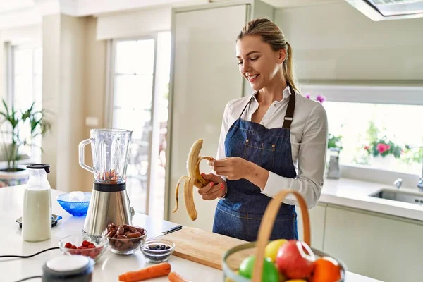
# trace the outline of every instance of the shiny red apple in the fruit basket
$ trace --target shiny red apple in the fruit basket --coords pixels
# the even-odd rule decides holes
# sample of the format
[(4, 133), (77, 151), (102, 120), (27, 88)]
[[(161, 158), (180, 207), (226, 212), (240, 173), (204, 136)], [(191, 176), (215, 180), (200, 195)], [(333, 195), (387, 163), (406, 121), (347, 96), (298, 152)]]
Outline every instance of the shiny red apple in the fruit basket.
[(289, 240), (279, 248), (276, 266), (288, 278), (308, 278), (312, 274), (315, 260), (312, 249), (306, 243)]

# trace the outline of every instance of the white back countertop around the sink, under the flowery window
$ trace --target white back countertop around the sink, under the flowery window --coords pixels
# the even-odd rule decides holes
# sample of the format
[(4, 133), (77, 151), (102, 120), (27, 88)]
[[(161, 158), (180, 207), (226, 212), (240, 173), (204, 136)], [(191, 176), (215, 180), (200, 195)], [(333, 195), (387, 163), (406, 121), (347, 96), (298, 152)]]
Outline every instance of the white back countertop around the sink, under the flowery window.
[[(379, 212), (381, 214), (423, 221), (423, 205), (370, 196), (382, 189), (398, 191), (393, 185), (381, 183), (371, 183), (349, 178), (340, 178), (336, 180), (325, 179), (319, 202), (338, 204), (343, 207), (364, 209), (370, 212)], [(420, 192), (417, 188), (401, 187), (399, 190), (415, 193), (423, 197), (423, 192)]]

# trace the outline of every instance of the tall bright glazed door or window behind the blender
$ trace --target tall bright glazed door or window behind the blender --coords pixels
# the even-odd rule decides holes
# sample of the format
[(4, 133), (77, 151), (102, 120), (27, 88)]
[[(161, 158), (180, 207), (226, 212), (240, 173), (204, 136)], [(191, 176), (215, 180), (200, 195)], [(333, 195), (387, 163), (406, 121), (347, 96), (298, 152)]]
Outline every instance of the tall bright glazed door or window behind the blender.
[(137, 212), (163, 219), (171, 32), (112, 46), (111, 127), (133, 130), (130, 203)]

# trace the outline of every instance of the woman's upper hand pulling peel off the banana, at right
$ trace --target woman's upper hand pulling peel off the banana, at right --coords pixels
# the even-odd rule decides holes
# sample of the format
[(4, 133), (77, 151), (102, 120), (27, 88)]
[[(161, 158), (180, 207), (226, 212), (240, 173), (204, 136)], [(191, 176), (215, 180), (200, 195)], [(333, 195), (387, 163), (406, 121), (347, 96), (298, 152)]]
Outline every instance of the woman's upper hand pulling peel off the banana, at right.
[(228, 180), (247, 178), (250, 172), (250, 161), (240, 157), (228, 157), (209, 161), (209, 165), (219, 176), (225, 176)]

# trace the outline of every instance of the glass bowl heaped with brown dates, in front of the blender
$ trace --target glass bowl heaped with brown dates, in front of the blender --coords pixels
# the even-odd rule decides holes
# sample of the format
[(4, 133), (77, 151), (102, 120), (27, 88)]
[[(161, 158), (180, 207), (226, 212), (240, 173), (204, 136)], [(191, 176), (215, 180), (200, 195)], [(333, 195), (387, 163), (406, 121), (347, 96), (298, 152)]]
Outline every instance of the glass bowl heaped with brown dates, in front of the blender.
[(112, 252), (118, 255), (131, 255), (145, 242), (147, 230), (139, 226), (109, 223), (103, 235), (109, 239)]

